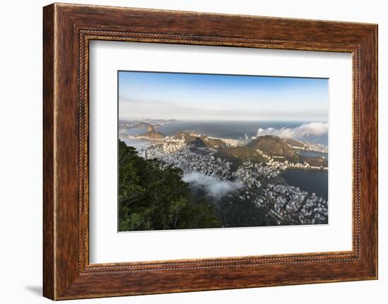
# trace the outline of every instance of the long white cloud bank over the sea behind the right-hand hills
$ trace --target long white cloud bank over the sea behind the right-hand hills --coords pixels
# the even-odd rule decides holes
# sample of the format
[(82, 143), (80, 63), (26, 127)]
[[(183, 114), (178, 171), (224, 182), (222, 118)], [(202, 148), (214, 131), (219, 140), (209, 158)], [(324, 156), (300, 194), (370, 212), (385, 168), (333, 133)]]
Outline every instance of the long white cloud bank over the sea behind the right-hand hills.
[(257, 136), (262, 135), (276, 135), (279, 138), (308, 138), (309, 136), (322, 136), (329, 131), (329, 123), (305, 123), (296, 128), (259, 128), (257, 130)]

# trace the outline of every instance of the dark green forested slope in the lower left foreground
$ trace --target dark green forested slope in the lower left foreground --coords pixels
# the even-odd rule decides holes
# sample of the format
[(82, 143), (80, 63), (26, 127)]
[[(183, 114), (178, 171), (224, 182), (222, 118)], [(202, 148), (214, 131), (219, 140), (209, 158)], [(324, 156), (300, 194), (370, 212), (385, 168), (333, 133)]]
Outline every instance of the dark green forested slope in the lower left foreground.
[(182, 171), (161, 169), (119, 140), (119, 231), (219, 227), (214, 206), (194, 198)]

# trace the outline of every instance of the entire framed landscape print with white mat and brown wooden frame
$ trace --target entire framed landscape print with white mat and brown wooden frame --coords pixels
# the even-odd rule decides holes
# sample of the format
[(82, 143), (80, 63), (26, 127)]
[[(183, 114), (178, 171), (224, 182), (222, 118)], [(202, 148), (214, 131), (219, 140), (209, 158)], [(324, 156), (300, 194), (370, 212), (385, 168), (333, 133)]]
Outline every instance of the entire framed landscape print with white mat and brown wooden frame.
[(377, 279), (377, 25), (44, 7), (44, 296)]

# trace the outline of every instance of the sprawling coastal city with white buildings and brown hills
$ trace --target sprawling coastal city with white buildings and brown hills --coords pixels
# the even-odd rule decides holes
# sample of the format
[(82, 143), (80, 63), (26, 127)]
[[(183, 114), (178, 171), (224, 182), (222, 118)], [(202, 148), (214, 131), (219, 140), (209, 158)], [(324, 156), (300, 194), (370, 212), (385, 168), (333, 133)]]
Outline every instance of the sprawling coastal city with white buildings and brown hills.
[[(324, 186), (327, 183), (327, 157), (301, 155), (301, 151), (314, 152), (314, 156), (325, 154), (325, 145), (274, 135), (232, 139), (207, 136), (195, 130), (178, 130), (173, 135), (164, 135), (153, 126), (147, 128), (147, 133), (142, 131), (136, 130), (138, 134), (129, 135), (124, 130), (119, 138), (135, 147), (143, 159), (161, 161), (161, 169), (172, 166), (180, 169), (183, 175), (195, 173), (188, 181), (190, 187), (219, 206), (221, 215), (229, 212), (227, 226), (240, 226), (241, 219), (234, 215), (236, 210), (261, 212), (271, 226), (327, 222), (328, 201)], [(308, 162), (309, 158), (311, 162)], [(290, 182), (285, 177), (289, 172), (300, 172), (302, 177), (307, 175), (303, 178), (307, 178), (310, 186), (298, 182), (298, 178), (296, 183)], [(314, 172), (320, 174), (314, 176)], [(316, 178), (324, 183), (315, 183)], [(313, 188), (311, 183), (315, 183)], [(214, 193), (219, 194), (214, 197)], [(248, 223), (249, 217), (243, 221)]]

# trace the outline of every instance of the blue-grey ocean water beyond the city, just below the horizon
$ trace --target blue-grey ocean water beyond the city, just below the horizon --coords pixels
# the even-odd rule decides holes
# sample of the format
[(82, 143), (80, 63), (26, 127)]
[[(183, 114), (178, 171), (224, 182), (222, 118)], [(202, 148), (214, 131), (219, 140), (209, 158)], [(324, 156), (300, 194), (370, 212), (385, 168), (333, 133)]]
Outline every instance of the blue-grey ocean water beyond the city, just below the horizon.
[[(164, 135), (174, 135), (181, 130), (195, 130), (197, 133), (215, 137), (215, 138), (231, 138), (231, 139), (250, 139), (257, 135), (259, 128), (267, 129), (274, 128), (297, 128), (302, 126), (303, 122), (295, 121), (199, 121), (199, 122), (183, 122), (183, 123), (166, 123), (164, 126), (157, 127), (157, 130)], [(138, 135), (144, 133), (145, 128), (131, 128), (126, 130), (124, 134)], [(325, 135), (307, 135), (301, 138), (296, 138), (306, 142), (316, 142), (322, 145), (327, 145), (328, 137)]]

